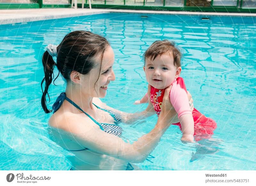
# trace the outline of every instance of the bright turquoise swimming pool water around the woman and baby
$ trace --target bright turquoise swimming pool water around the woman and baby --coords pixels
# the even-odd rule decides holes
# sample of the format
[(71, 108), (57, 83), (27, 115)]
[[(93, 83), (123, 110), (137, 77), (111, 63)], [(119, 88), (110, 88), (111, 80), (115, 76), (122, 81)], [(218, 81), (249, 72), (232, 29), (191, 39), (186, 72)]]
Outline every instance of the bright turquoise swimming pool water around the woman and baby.
[[(68, 170), (68, 152), (47, 134), (51, 114), (41, 108), (40, 83), (44, 48), (59, 44), (74, 30), (90, 30), (108, 38), (115, 52), (116, 81), (103, 100), (126, 112), (146, 92), (142, 54), (155, 40), (174, 40), (182, 49), (181, 76), (194, 105), (218, 127), (202, 148), (180, 142), (171, 126), (151, 153), (153, 163), (143, 170), (256, 169), (256, 27), (252, 17), (137, 14), (99, 14), (0, 26), (0, 170)], [(55, 71), (57, 73), (57, 71)], [(61, 78), (51, 86), (51, 106), (63, 92)], [(149, 132), (157, 116), (124, 127), (123, 137), (134, 141)]]

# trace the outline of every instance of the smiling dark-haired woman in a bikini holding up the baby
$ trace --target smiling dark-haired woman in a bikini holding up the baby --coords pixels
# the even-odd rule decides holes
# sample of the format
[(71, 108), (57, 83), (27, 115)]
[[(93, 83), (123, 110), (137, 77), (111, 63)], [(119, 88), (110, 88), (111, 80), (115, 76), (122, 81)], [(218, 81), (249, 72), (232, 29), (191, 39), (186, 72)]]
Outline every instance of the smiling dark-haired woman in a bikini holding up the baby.
[[(57, 63), (52, 56), (57, 56)], [(131, 163), (146, 160), (154, 150), (165, 130), (178, 121), (165, 92), (162, 112), (156, 126), (133, 144), (120, 138), (118, 125), (133, 123), (141, 117), (155, 114), (152, 104), (140, 113), (124, 113), (102, 103), (108, 84), (115, 80), (112, 69), (114, 52), (108, 41), (100, 35), (86, 31), (68, 33), (58, 47), (48, 45), (43, 55), (45, 81), (42, 107), (50, 113), (46, 104), (48, 88), (52, 83), (53, 69), (67, 81), (65, 93), (61, 93), (53, 105), (49, 120), (52, 138), (64, 149), (74, 153), (68, 157), (71, 170), (133, 170)], [(42, 87), (43, 89), (43, 87)], [(190, 94), (189, 94), (190, 95)], [(190, 96), (190, 102), (193, 102)], [(193, 104), (192, 104), (193, 107)]]

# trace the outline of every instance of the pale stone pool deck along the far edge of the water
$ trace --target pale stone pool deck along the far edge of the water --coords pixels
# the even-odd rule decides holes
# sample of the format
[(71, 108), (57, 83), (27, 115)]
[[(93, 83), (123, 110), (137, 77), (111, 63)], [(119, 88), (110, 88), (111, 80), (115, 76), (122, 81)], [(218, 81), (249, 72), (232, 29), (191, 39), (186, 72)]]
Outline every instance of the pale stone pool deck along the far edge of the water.
[[(182, 9), (182, 7), (181, 7)], [(175, 14), (175, 15), (216, 15), (216, 16), (246, 16), (255, 17), (256, 13), (222, 13), (222, 12), (190, 12), (190, 11), (151, 11), (151, 10), (122, 10), (122, 9), (72, 9), (72, 8), (40, 8), (0, 10), (0, 25), (60, 19), (102, 13), (138, 13), (138, 14)]]

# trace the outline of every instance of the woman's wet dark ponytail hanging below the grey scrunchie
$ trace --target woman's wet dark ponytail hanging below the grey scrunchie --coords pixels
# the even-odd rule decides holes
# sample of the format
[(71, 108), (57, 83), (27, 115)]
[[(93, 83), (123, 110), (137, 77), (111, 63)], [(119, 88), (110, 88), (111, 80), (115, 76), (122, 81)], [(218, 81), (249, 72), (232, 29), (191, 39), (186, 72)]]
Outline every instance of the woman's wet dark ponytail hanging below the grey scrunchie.
[[(48, 108), (47, 108), (46, 94), (48, 95), (49, 102), (50, 102), (50, 96), (48, 94), (48, 89), (52, 83), (52, 79), (54, 78), (53, 69), (54, 69), (54, 66), (56, 65), (56, 63), (54, 62), (52, 56), (49, 54), (48, 51), (44, 52), (43, 57), (42, 57), (42, 62), (43, 62), (43, 66), (44, 66), (44, 78), (41, 82), (41, 88), (42, 88), (42, 92), (43, 92), (43, 95), (41, 98), (41, 105), (42, 105), (42, 108), (44, 109), (44, 112), (47, 114), (47, 113), (52, 112), (52, 110), (48, 110)], [(59, 72), (59, 74), (60, 74), (60, 72)], [(59, 76), (59, 74), (58, 74), (58, 76)], [(58, 76), (56, 78), (58, 78)], [(55, 80), (56, 80), (56, 78), (55, 78)], [(44, 81), (45, 81), (45, 84), (44, 84), (44, 91), (43, 91)], [(54, 84), (54, 81), (53, 81), (53, 84)]]

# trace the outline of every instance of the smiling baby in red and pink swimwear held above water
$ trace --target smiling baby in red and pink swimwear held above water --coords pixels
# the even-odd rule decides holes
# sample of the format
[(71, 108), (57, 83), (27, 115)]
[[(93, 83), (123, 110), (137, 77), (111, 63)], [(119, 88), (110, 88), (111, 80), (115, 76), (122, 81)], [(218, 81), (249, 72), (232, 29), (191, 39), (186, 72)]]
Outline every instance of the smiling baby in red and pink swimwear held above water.
[(210, 138), (217, 124), (195, 108), (191, 111), (184, 79), (180, 77), (181, 54), (175, 45), (168, 40), (155, 41), (146, 50), (143, 58), (146, 79), (151, 87), (150, 99), (146, 94), (134, 104), (146, 103), (150, 100), (156, 114), (159, 115), (165, 88), (172, 85), (170, 101), (178, 113), (180, 122), (174, 125), (178, 125), (182, 130), (181, 141), (194, 143), (194, 137), (196, 141)]

